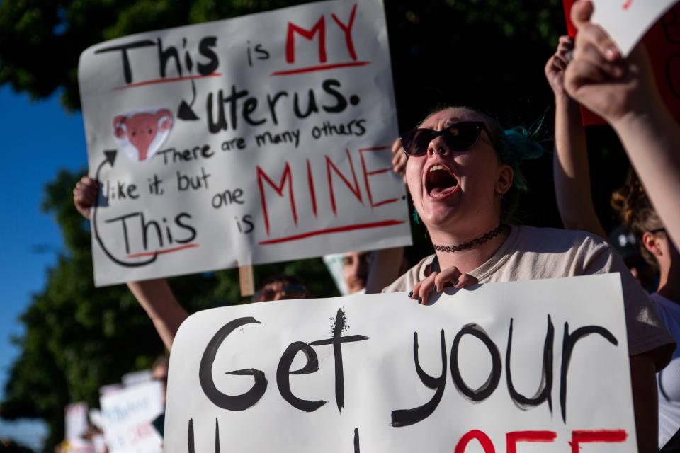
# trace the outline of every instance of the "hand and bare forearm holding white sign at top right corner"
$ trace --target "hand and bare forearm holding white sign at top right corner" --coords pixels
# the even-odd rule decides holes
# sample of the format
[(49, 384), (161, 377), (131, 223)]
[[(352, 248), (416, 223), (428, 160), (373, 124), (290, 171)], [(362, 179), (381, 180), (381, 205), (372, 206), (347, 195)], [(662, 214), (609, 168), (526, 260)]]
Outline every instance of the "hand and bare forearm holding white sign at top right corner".
[(599, 26), (590, 22), (591, 1), (572, 6), (578, 28), (565, 89), (616, 131), (655, 205), (667, 233), (680, 244), (680, 127), (657, 90), (643, 45), (627, 59)]

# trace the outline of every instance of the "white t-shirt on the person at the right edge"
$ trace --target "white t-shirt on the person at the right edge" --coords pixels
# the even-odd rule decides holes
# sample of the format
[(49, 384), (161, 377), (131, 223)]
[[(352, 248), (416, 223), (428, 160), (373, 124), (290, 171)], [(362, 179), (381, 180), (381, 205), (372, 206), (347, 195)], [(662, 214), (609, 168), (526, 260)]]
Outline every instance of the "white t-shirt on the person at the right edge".
[[(659, 318), (676, 342), (680, 343), (680, 304), (659, 294), (651, 294)], [(659, 389), (659, 448), (666, 445), (680, 428), (680, 348), (671, 362), (657, 373)]]

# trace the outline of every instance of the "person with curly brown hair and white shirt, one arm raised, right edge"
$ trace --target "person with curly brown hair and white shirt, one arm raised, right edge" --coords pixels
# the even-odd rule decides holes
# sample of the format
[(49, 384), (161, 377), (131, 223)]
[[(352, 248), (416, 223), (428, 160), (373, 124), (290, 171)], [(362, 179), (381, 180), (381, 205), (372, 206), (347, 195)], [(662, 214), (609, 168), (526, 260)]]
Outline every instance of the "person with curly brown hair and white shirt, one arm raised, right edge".
[[(555, 193), (565, 226), (603, 235), (604, 228), (595, 212), (590, 193), (587, 144), (580, 105), (565, 92), (564, 76), (572, 59), (573, 40), (563, 36), (557, 52), (545, 66), (545, 75), (555, 92)], [(653, 106), (652, 106), (653, 108)], [(652, 294), (659, 316), (680, 342), (680, 255), (664, 231), (645, 190), (633, 171), (623, 188), (613, 193), (612, 206), (618, 211), (625, 230), (616, 241), (638, 244), (642, 257), (659, 271), (657, 292)], [(623, 243), (622, 243), (623, 242)], [(628, 264), (628, 263), (627, 263)], [(630, 268), (630, 265), (629, 265)], [(642, 270), (636, 264), (631, 272)], [(638, 274), (638, 277), (642, 275)], [(663, 447), (680, 428), (680, 351), (674, 352), (668, 367), (657, 373), (659, 398), (658, 446)]]

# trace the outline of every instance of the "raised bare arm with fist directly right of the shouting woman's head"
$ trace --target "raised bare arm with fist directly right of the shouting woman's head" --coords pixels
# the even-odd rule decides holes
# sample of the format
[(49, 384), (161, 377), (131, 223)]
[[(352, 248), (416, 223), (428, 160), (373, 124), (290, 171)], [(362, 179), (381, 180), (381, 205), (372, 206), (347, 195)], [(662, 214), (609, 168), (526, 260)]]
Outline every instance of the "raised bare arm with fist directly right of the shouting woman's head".
[(589, 231), (607, 240), (591, 195), (586, 134), (580, 105), (565, 91), (565, 69), (572, 59), (574, 41), (562, 36), (555, 55), (545, 65), (545, 77), (555, 93), (555, 195), (562, 224)]

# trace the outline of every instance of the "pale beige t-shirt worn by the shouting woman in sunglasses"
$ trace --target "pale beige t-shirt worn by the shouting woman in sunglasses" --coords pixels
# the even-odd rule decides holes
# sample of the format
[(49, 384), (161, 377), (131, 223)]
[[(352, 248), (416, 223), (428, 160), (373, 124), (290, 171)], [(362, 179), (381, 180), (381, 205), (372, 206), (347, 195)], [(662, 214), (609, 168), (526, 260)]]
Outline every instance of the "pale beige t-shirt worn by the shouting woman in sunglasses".
[[(404, 292), (438, 268), (427, 256), (382, 292)], [(654, 351), (657, 370), (667, 365), (675, 348), (649, 295), (635, 281), (623, 259), (603, 241), (584, 231), (512, 226), (502, 246), (470, 275), (480, 283), (538, 280), (621, 273), (630, 355)]]

